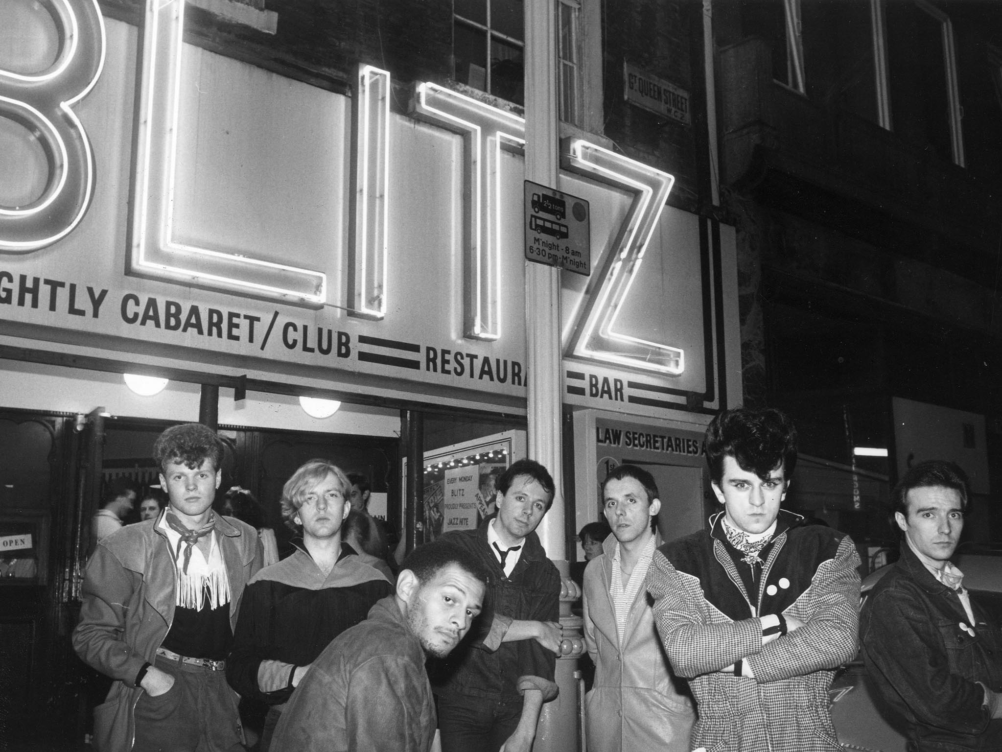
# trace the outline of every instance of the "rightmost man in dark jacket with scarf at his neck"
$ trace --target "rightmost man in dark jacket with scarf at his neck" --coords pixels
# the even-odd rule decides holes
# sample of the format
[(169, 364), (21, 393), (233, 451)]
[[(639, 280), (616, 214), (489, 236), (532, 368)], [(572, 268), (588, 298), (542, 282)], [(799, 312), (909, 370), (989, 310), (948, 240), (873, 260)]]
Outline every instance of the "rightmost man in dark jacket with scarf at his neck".
[(964, 529), (967, 476), (920, 462), (891, 492), (901, 558), (863, 608), (863, 657), (908, 722), (909, 750), (1002, 749), (1002, 636), (950, 562)]

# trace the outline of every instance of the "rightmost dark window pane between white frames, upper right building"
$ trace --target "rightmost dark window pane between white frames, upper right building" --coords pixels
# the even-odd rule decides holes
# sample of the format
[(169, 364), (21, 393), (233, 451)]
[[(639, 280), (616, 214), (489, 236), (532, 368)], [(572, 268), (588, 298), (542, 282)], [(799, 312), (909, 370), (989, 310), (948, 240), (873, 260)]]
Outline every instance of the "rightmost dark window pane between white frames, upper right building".
[(888, 77), (894, 131), (953, 158), (943, 24), (914, 3), (888, 3)]

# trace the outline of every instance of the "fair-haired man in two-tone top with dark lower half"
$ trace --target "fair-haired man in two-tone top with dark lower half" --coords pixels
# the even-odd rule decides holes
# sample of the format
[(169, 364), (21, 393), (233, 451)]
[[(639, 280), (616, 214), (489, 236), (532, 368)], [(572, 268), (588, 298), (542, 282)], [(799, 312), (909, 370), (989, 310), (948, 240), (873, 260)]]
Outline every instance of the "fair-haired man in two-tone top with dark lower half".
[(261, 752), (274, 746), (286, 702), (317, 656), (393, 591), (342, 540), (351, 487), (326, 459), (293, 473), (282, 491), (282, 515), (302, 535), (297, 551), (258, 573), (243, 596), (226, 678), (242, 697), (269, 706)]

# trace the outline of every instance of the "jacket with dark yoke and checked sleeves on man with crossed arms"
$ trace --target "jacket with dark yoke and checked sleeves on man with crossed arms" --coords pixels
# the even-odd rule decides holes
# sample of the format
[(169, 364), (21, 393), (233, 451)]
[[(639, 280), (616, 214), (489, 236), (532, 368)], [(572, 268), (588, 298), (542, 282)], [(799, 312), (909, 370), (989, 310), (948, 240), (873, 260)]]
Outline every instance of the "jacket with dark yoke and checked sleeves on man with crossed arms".
[[(727, 552), (722, 516), (710, 518), (708, 533), (662, 545), (647, 573), (661, 642), (698, 704), (692, 748), (841, 750), (828, 690), (833, 669), (857, 652), (856, 546), (848, 535), (801, 525), (799, 515), (781, 510), (753, 597)], [(779, 613), (806, 626), (764, 646), (759, 617)], [(726, 672), (738, 659), (754, 678)]]

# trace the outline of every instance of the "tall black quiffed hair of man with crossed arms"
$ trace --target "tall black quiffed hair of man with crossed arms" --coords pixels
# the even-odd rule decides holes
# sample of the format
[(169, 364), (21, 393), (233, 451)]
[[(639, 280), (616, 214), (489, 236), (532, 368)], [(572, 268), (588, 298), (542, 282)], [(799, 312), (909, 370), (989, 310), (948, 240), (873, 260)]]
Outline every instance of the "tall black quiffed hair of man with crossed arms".
[(773, 407), (725, 410), (706, 427), (706, 464), (714, 483), (723, 477), (726, 456), (763, 479), (782, 463), (789, 478), (797, 466), (797, 429), (786, 413)]

